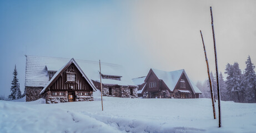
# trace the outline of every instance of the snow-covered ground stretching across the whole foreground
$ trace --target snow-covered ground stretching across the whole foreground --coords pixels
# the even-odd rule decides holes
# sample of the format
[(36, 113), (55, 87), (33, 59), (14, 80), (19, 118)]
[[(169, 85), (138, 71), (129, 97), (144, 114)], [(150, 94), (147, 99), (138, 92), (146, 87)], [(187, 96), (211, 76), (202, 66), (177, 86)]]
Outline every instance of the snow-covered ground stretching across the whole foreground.
[[(42, 104), (0, 101), (0, 132), (255, 132), (256, 104), (222, 101), (223, 127), (210, 99), (128, 99)], [(218, 115), (217, 115), (218, 116)]]

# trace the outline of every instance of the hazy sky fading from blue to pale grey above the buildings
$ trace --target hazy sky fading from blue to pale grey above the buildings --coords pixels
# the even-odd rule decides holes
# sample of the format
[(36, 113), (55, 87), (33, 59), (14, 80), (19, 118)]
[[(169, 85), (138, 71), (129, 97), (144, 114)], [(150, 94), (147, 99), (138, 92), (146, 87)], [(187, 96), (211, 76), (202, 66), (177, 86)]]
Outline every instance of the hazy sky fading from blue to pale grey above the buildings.
[(215, 71), (213, 8), (219, 71), (248, 55), (256, 64), (256, 1), (0, 1), (0, 95), (9, 95), (14, 65), (21, 90), (27, 55), (123, 65), (130, 78), (150, 68), (185, 69), (208, 78), (202, 30)]

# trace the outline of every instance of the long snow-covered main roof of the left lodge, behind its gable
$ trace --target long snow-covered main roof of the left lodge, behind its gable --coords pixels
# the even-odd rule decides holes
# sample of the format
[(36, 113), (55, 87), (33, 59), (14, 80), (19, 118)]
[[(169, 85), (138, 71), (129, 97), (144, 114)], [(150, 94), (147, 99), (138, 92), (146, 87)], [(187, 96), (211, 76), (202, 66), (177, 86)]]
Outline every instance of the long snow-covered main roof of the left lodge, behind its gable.
[[(48, 70), (58, 71), (70, 60), (67, 58), (37, 57), (31, 55), (26, 55), (26, 57), (25, 86), (36, 87), (44, 87), (48, 84)], [(88, 79), (94, 81), (99, 80), (99, 62), (80, 59), (75, 60)], [(101, 63), (101, 70), (102, 74), (122, 76), (121, 81), (123, 83), (136, 86), (121, 65)]]

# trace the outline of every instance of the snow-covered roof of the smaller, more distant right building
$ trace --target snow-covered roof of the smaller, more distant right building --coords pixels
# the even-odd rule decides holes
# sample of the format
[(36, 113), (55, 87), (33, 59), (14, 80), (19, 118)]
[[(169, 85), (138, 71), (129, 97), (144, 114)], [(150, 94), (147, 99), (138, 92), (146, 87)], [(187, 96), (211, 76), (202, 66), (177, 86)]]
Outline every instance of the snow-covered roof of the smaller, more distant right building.
[(178, 83), (180, 76), (182, 76), (182, 73), (184, 72), (194, 93), (202, 93), (197, 88), (197, 86), (195, 86), (192, 83), (192, 81), (190, 81), (190, 79), (188, 78), (184, 69), (175, 70), (175, 71), (163, 71), (163, 70), (158, 70), (158, 69), (152, 69), (152, 71), (154, 72), (154, 74), (157, 76), (158, 79), (161, 79), (164, 81), (164, 83), (167, 85), (167, 87), (170, 89), (170, 91), (174, 90), (176, 84)]

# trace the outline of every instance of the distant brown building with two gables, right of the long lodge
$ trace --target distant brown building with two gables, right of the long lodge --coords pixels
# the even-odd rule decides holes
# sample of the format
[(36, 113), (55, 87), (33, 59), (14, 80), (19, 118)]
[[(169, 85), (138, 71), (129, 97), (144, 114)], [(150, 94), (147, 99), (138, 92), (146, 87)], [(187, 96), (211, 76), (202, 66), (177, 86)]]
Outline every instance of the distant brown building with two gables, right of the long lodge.
[[(138, 81), (138, 79), (133, 79)], [(134, 82), (134, 83), (135, 83)], [(136, 83), (135, 83), (136, 84)], [(137, 93), (143, 98), (199, 98), (201, 91), (188, 78), (185, 70), (150, 69)]]

